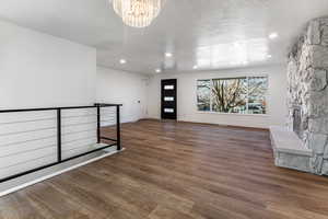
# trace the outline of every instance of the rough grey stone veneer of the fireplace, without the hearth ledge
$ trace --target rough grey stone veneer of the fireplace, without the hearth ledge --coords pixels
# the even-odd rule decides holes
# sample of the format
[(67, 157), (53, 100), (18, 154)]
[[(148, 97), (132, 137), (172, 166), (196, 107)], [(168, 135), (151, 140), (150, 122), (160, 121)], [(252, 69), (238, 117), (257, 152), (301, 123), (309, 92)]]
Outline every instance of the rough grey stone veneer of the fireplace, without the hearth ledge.
[(289, 55), (288, 125), (301, 107), (300, 138), (313, 149), (311, 171), (328, 175), (328, 18), (309, 22)]

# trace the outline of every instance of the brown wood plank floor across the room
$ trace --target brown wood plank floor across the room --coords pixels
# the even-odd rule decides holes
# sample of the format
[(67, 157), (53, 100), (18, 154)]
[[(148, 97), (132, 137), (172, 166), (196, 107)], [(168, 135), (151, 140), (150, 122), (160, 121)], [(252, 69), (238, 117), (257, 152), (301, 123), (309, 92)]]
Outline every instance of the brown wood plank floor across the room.
[(276, 168), (266, 130), (141, 120), (122, 145), (0, 198), (0, 218), (328, 218), (328, 178)]

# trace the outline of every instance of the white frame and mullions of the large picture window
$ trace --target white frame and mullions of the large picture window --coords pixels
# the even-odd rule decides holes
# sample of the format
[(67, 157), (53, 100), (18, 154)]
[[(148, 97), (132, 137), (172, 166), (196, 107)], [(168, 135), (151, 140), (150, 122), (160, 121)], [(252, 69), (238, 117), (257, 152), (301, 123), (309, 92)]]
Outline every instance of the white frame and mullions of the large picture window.
[[(248, 113), (248, 91), (247, 91), (247, 100), (246, 100), (246, 106), (247, 106), (247, 113), (245, 114), (241, 114), (241, 113), (223, 113), (223, 112), (215, 112), (212, 111), (212, 92), (211, 92), (211, 97), (210, 97), (210, 111), (200, 111), (198, 108), (198, 81), (201, 80), (210, 80), (211, 84), (212, 81), (215, 79), (239, 79), (239, 78), (246, 78), (247, 81), (249, 78), (260, 78), (260, 77), (265, 77), (267, 78), (267, 83), (268, 83), (268, 89), (267, 89), (267, 93), (266, 93), (266, 102), (267, 102), (267, 108), (266, 108), (266, 114), (249, 114)], [(211, 77), (211, 78), (197, 78), (195, 81), (195, 88), (196, 88), (196, 97), (195, 97), (195, 107), (196, 107), (196, 112), (199, 114), (218, 114), (218, 115), (236, 115), (236, 116), (259, 116), (259, 117), (268, 117), (270, 116), (270, 77), (268, 73), (245, 73), (245, 74), (235, 74), (235, 76), (221, 76), (221, 77)], [(248, 82), (247, 82), (247, 90), (248, 90)]]

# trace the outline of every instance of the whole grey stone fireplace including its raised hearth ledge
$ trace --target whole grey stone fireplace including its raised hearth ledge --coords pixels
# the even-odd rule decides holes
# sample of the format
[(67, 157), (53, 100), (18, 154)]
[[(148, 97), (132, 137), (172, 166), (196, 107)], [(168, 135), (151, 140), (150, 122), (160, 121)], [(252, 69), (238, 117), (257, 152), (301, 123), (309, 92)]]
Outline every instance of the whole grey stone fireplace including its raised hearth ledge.
[(277, 165), (328, 175), (327, 74), (328, 18), (320, 18), (308, 23), (289, 54), (288, 125), (270, 128)]

